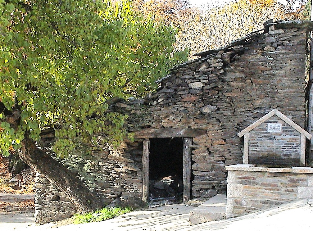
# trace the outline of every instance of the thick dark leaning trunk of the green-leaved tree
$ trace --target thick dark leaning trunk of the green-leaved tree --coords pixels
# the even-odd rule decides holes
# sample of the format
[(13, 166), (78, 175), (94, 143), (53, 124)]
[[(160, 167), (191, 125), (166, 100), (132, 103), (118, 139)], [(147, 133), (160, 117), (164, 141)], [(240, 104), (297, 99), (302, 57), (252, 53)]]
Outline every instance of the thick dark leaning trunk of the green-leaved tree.
[(28, 132), (25, 134), (22, 148), (18, 150), (18, 154), (25, 163), (61, 189), (79, 213), (91, 212), (104, 207), (100, 199), (78, 177), (44, 151), (38, 149), (35, 142), (29, 138)]

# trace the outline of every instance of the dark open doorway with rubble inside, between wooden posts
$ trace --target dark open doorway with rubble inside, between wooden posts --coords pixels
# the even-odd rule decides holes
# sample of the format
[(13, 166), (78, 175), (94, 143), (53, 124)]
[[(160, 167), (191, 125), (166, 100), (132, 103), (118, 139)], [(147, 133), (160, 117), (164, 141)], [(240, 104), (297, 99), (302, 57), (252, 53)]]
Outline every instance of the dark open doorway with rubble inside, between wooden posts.
[(150, 139), (149, 196), (182, 200), (183, 138)]

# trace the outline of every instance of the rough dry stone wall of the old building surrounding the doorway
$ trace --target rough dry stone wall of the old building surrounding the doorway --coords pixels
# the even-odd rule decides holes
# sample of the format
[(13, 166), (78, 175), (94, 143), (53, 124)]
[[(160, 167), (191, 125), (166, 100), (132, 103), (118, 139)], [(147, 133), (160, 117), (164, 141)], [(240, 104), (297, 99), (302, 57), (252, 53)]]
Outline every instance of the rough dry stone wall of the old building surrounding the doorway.
[[(156, 93), (115, 103), (109, 111), (128, 114), (128, 129), (135, 133), (144, 128), (206, 130), (192, 137), (192, 198), (206, 200), (226, 192), (224, 166), (243, 162), (239, 131), (274, 108), (304, 127), (306, 40), (312, 28), (308, 22), (269, 24), (178, 65), (158, 81)], [(142, 149), (134, 150), (135, 157), (121, 148), (92, 162), (88, 170), (85, 163), (70, 168), (83, 174), (90, 189), (107, 202), (124, 196), (136, 203), (141, 198)]]

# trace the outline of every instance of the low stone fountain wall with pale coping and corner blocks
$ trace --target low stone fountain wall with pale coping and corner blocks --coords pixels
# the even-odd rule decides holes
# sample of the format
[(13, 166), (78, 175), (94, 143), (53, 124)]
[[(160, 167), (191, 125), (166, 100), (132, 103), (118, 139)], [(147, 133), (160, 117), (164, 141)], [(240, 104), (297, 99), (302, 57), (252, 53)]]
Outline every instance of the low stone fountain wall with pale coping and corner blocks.
[(237, 164), (225, 167), (226, 218), (313, 198), (313, 168), (269, 168)]

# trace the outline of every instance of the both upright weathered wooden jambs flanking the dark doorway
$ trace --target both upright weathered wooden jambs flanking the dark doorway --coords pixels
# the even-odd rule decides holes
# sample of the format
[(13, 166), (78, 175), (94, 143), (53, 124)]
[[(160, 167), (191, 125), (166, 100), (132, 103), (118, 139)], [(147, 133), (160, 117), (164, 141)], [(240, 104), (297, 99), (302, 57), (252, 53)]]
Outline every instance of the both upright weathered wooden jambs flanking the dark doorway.
[[(185, 203), (190, 200), (191, 193), (191, 144), (192, 138), (183, 138), (183, 190), (182, 202)], [(149, 179), (150, 179), (150, 140), (145, 138), (143, 140), (142, 151), (142, 203), (145, 205), (149, 202)]]

